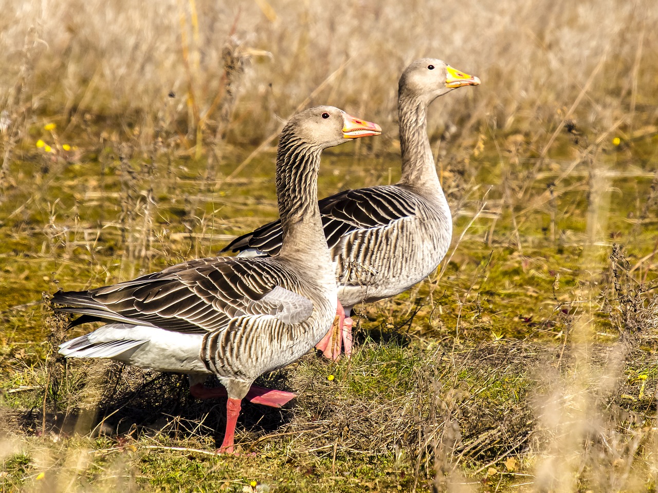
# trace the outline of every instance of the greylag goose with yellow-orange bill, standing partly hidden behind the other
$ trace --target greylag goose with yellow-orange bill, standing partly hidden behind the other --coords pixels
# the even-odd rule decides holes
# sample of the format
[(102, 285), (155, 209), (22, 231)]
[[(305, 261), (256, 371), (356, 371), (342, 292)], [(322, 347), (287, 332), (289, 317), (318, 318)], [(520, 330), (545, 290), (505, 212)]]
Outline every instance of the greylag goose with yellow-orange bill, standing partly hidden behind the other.
[[(402, 176), (395, 185), (347, 190), (320, 200), (320, 214), (338, 283), (338, 330), (316, 348), (332, 360), (341, 345), (351, 354), (349, 317), (355, 304), (388, 298), (434, 272), (452, 239), (452, 218), (436, 174), (427, 136), (427, 108), (434, 99), (480, 79), (437, 59), (420, 59), (398, 85)], [(275, 255), (282, 245), (280, 221), (242, 235), (222, 252)]]

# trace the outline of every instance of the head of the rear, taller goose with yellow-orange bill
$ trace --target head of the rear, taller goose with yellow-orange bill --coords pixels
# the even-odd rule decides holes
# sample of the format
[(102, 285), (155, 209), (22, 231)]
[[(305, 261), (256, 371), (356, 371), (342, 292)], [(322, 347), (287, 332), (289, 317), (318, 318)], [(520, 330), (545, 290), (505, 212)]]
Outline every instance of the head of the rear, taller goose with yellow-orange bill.
[(412, 62), (402, 73), (399, 95), (406, 99), (421, 99), (426, 104), (464, 85), (478, 85), (480, 79), (469, 76), (438, 59)]

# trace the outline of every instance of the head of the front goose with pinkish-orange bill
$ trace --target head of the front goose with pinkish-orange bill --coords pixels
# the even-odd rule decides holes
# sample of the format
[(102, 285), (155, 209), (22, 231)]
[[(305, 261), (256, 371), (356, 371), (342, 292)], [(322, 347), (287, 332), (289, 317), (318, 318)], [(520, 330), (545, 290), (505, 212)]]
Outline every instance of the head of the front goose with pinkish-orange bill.
[(361, 120), (334, 106), (315, 106), (297, 113), (290, 119), (282, 133), (294, 135), (297, 143), (326, 149), (347, 142), (349, 139), (379, 135), (377, 124)]

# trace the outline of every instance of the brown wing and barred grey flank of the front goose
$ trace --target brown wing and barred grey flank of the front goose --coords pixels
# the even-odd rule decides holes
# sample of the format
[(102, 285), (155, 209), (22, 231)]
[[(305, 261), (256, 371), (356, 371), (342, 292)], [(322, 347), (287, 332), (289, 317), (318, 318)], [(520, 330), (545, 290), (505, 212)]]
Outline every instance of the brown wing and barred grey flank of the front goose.
[(53, 302), (101, 320), (201, 334), (209, 372), (253, 381), (307, 352), (322, 335), (313, 332), (318, 318), (332, 318), (332, 290), (307, 277), (278, 257), (214, 257), (80, 294), (55, 293)]

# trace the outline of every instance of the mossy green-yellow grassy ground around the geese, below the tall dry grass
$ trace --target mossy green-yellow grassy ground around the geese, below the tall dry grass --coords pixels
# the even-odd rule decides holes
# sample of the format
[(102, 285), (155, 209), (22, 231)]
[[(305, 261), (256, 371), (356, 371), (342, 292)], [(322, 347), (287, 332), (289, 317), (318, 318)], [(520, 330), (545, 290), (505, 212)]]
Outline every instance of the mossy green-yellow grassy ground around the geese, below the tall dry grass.
[[(113, 283), (213, 254), (232, 233), (275, 217), (268, 174), (248, 177), (245, 170), (217, 191), (196, 178), (203, 162), (183, 158), (172, 166), (180, 174), (155, 180), (144, 164), (134, 164), (128, 180), (120, 163), (107, 165), (116, 159), (108, 154), (88, 166), (60, 163), (60, 170), (42, 179), (24, 179), (11, 191), (18, 202), (2, 204), (7, 220), (0, 254), (3, 273), (13, 279), (0, 296), (1, 405), (11, 416), (5, 427), (10, 451), (3, 456), (5, 489), (38, 489), (49, 479), (59, 490), (241, 491), (257, 481), (265, 485), (261, 490), (277, 492), (424, 491), (474, 480), (504, 490), (528, 477), (540, 481), (534, 471), (541, 469), (542, 450), (560, 442), (563, 431), (545, 422), (538, 399), (550, 401), (556, 391), (569, 395), (582, 365), (617, 382), (603, 394), (596, 380), (583, 384), (599, 421), (615, 422), (622, 411), (642, 417), (619, 421), (626, 433), (639, 433), (646, 442), (622, 455), (642, 476), (645, 449), (655, 438), (640, 430), (654, 419), (657, 377), (651, 363), (656, 310), (650, 304), (655, 239), (651, 213), (642, 210), (652, 197), (651, 175), (634, 168), (635, 177), (611, 175), (596, 189), (582, 163), (576, 166), (582, 177), (555, 185), (546, 209), (545, 202), (528, 206), (506, 195), (512, 185), (520, 191), (521, 182), (505, 178), (495, 159), (486, 160), (491, 151), (485, 146), (477, 164), (469, 164), (492, 170), (478, 177), (489, 191), (478, 180), (447, 176), (455, 249), (442, 269), (392, 300), (358, 308), (357, 350), (349, 362), (328, 364), (309, 355), (264, 381), (294, 390), (299, 398), (284, 412), (245, 406), (237, 439), (255, 458), (204, 453), (221, 438), (222, 404), (194, 402), (178, 377), (93, 363), (53, 366), (47, 356), (53, 326), (45, 322), (40, 300), (43, 291)], [(636, 162), (635, 152), (642, 156), (645, 149), (627, 149), (626, 159)], [(597, 156), (605, 168), (610, 156)], [(41, 158), (34, 154), (36, 162)], [(265, 169), (272, 155), (262, 159)], [(239, 160), (236, 154), (234, 162)], [(344, 153), (328, 156), (320, 188), (340, 185), (336, 177), (352, 162)], [(378, 166), (395, 164), (390, 156)], [(15, 166), (13, 173), (27, 172)], [(166, 160), (156, 160), (155, 176), (166, 166)], [(534, 181), (530, 200), (541, 197), (550, 174), (561, 170)], [(366, 184), (367, 173), (350, 185)], [(105, 193), (102, 206), (86, 195), (95, 187)], [(150, 187), (157, 203), (149, 212), (140, 197)], [(597, 190), (603, 190), (609, 212), (591, 233), (588, 209), (594, 206), (587, 194)], [(122, 219), (124, 200), (132, 200), (134, 214)], [(16, 212), (17, 203), (26, 206)], [(150, 250), (139, 254), (147, 214)], [(646, 225), (634, 221), (642, 214)], [(595, 245), (588, 250), (591, 234)], [(624, 245), (621, 257), (613, 257), (616, 271), (613, 243)], [(611, 369), (605, 355), (617, 347), (620, 334), (634, 331), (626, 326), (629, 310), (642, 322), (639, 339), (629, 343), (619, 369)], [(594, 359), (582, 360), (572, 333), (588, 311)], [(508, 468), (509, 458), (515, 462)], [(580, 481), (596, 484), (598, 473), (586, 466)], [(635, 490), (651, 491), (653, 483), (642, 484)]]

